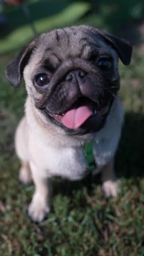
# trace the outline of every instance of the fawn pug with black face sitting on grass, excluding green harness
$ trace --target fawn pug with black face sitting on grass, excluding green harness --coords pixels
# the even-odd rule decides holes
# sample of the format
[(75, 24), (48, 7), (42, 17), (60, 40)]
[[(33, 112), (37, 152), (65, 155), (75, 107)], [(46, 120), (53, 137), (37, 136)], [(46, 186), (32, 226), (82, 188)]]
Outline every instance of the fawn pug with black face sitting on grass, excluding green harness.
[(50, 211), (51, 177), (88, 174), (83, 146), (91, 141), (105, 196), (116, 196), (113, 158), (123, 123), (118, 59), (129, 65), (131, 45), (90, 26), (43, 33), (5, 69), (14, 88), (25, 80), (25, 115), (15, 135), (20, 181), (33, 180), (28, 207), (34, 222)]

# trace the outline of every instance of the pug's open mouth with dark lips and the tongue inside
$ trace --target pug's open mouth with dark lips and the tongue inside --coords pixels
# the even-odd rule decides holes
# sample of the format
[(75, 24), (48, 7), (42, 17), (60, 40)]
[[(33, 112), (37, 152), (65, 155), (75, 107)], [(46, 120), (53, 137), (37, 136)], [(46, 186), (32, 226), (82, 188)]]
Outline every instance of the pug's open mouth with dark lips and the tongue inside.
[(61, 122), (65, 127), (76, 130), (83, 125), (93, 126), (95, 130), (106, 117), (110, 109), (111, 101), (102, 108), (98, 108), (97, 104), (88, 98), (79, 98), (68, 110), (61, 114), (49, 115)]

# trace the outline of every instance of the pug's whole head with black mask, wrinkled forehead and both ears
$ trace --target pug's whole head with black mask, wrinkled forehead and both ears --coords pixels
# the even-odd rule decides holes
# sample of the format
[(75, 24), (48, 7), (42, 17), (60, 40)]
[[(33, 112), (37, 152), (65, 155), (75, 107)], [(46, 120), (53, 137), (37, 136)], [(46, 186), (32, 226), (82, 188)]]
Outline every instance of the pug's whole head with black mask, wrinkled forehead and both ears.
[(118, 57), (129, 65), (125, 40), (89, 26), (41, 34), (10, 63), (5, 75), (15, 88), (21, 78), (47, 123), (70, 135), (98, 131), (119, 90)]

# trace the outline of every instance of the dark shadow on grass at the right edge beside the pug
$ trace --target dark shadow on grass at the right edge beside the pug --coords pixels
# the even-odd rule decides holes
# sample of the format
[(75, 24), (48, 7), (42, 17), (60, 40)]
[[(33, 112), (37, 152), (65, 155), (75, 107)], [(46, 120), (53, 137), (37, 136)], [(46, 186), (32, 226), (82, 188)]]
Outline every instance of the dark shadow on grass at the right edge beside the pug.
[(127, 113), (122, 139), (116, 155), (116, 170), (121, 177), (142, 177), (144, 172), (144, 114)]

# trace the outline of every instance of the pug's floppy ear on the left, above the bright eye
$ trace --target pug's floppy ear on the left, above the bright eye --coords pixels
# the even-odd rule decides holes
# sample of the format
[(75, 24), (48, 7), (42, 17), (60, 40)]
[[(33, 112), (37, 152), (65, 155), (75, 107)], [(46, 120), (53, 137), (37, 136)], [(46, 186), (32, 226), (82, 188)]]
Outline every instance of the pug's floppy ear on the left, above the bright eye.
[(23, 69), (28, 63), (34, 46), (35, 41), (25, 46), (25, 48), (20, 51), (19, 55), (5, 68), (5, 77), (14, 88), (19, 87), (21, 84)]

